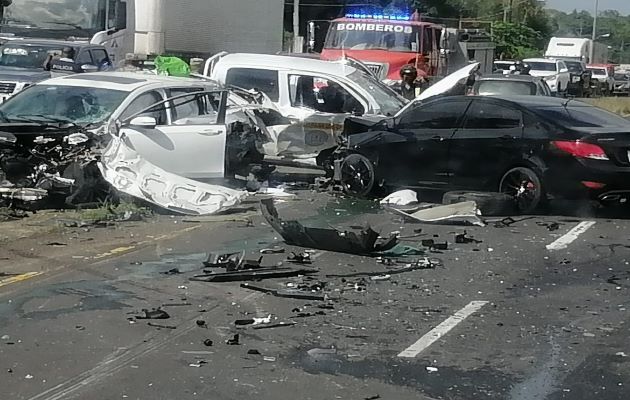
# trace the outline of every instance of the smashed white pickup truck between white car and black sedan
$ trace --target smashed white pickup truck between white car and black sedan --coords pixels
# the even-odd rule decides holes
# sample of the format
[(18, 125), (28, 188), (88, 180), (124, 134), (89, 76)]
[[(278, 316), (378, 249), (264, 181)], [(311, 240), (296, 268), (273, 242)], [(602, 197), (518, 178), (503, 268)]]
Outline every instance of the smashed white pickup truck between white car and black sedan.
[(343, 62), (222, 53), (206, 61), (204, 75), (265, 93), (292, 121), (288, 127), (277, 127), (275, 143), (265, 148), (265, 155), (309, 164), (321, 151), (337, 145), (348, 116), (392, 116), (406, 104), (373, 76)]

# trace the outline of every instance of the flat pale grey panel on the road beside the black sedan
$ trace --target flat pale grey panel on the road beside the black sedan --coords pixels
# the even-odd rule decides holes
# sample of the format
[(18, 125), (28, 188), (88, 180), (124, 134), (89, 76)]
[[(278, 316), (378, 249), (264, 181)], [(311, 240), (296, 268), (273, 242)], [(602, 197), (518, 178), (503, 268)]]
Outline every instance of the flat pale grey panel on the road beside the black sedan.
[(398, 213), (406, 219), (426, 224), (485, 226), (485, 222), (479, 217), (480, 212), (474, 201), (425, 208), (413, 214), (407, 214), (391, 207), (388, 210)]

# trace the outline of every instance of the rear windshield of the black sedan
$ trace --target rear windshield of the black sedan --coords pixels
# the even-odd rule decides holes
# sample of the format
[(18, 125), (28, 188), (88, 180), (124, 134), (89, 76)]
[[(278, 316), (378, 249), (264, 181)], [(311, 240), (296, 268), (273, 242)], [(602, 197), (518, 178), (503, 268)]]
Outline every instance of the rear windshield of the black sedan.
[(630, 121), (597, 107), (568, 104), (566, 107), (535, 107), (534, 111), (545, 119), (564, 127), (622, 126), (630, 128)]

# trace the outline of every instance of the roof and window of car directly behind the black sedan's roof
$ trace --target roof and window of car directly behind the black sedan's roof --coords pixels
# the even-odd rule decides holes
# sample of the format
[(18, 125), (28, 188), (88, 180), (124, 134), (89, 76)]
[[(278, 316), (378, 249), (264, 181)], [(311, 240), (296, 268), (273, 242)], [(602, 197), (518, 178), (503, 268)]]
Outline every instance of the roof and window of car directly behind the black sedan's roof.
[(476, 78), (473, 94), (479, 96), (551, 96), (551, 89), (539, 77), (495, 74)]

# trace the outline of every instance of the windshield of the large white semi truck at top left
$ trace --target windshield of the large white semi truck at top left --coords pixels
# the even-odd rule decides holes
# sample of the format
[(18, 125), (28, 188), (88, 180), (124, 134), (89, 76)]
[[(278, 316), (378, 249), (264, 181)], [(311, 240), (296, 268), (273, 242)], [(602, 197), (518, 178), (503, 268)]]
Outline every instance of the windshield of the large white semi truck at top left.
[(19, 0), (5, 8), (3, 24), (88, 35), (105, 29), (107, 0)]

